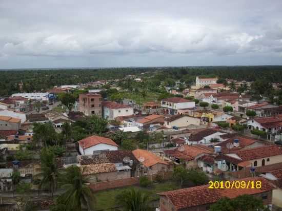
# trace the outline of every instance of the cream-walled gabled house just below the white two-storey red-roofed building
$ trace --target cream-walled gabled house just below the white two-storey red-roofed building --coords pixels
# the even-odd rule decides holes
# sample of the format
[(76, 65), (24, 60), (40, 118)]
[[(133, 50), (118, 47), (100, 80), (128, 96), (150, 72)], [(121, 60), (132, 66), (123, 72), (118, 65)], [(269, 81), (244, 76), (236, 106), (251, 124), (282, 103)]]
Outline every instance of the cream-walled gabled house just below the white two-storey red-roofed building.
[(200, 122), (201, 122), (200, 118), (178, 114), (175, 116), (165, 118), (164, 126), (166, 128), (173, 128), (173, 127), (182, 128), (190, 124), (200, 125)]

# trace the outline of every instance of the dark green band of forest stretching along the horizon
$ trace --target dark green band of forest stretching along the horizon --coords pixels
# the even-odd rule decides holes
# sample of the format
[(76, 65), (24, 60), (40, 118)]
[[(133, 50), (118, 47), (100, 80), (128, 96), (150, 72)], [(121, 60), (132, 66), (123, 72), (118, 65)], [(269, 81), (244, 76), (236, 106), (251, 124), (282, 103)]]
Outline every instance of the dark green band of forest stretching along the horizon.
[(150, 78), (151, 86), (160, 81), (170, 84), (168, 78), (193, 83), (196, 76), (230, 78), (267, 82), (282, 82), (282, 66), (213, 66), (213, 67), (164, 67), (164, 68), (108, 68), (108, 69), (62, 69), (0, 71), (0, 96), (23, 91), (33, 92), (50, 89), (53, 86), (85, 83), (103, 79), (123, 79), (126, 75), (144, 73)]

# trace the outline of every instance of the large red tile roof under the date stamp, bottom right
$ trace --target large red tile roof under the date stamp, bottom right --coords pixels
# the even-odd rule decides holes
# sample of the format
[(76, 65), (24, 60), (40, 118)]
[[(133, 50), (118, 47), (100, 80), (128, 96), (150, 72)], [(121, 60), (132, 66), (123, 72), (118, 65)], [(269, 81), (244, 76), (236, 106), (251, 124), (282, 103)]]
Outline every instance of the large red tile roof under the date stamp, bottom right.
[(254, 195), (271, 191), (273, 186), (265, 179), (261, 177), (249, 177), (241, 181), (261, 181), (261, 188), (232, 188), (232, 189), (209, 189), (209, 185), (200, 185), (195, 187), (189, 187), (184, 189), (177, 189), (175, 191), (160, 193), (160, 196), (167, 197), (174, 205), (176, 210), (185, 209), (189, 207), (195, 207), (204, 204), (215, 203), (223, 197), (230, 199), (236, 198), (240, 195), (248, 194)]

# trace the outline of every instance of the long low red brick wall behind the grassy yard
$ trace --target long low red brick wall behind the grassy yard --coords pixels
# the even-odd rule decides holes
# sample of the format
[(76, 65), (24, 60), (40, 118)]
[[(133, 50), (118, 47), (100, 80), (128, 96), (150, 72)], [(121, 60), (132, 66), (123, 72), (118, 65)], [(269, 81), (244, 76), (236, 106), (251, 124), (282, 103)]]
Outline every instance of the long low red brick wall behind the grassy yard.
[[(168, 180), (172, 177), (172, 172), (164, 172), (163, 178)], [(149, 175), (148, 178), (150, 180), (154, 180), (156, 175)], [(112, 180), (112, 181), (105, 181), (105, 182), (97, 182), (92, 183), (89, 186), (94, 189), (94, 191), (103, 191), (104, 189), (111, 189), (116, 187), (124, 187), (130, 185), (139, 184), (139, 177), (131, 177), (128, 179), (119, 179), (119, 180)]]

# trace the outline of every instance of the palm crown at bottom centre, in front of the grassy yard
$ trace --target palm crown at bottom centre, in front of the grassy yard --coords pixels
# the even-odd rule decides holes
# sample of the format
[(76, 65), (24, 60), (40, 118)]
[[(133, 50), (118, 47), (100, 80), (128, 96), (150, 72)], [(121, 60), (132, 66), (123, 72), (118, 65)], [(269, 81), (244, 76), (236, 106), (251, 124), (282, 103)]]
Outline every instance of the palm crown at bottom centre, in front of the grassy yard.
[(150, 197), (139, 189), (127, 189), (117, 196), (116, 202), (123, 207), (123, 211), (148, 211)]

